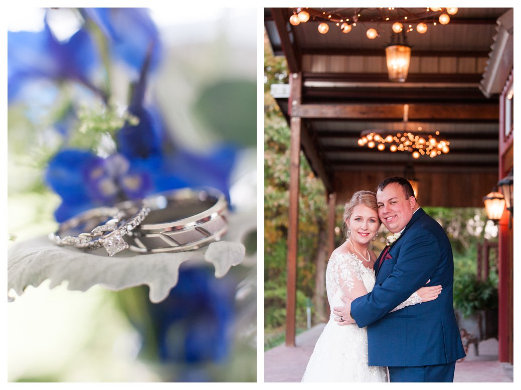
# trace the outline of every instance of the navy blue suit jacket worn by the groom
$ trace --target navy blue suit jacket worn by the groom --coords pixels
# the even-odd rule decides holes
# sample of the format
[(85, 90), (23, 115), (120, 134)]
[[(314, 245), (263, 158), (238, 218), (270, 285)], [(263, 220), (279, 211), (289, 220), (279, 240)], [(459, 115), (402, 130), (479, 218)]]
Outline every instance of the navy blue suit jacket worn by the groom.
[[(369, 365), (414, 367), (465, 356), (453, 308), (452, 248), (435, 220), (417, 210), (376, 272), (373, 291), (351, 304), (356, 324), (367, 326)], [(437, 299), (391, 312), (428, 279), (443, 288)]]

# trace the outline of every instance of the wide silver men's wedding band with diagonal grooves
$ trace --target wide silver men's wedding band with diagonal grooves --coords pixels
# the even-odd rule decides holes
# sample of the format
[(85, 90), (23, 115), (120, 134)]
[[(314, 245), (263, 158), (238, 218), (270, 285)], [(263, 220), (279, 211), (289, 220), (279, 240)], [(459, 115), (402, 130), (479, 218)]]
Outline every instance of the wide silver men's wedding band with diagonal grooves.
[(144, 202), (151, 212), (127, 238), (135, 252), (193, 250), (220, 240), (226, 233), (228, 204), (219, 190), (183, 188), (156, 194)]

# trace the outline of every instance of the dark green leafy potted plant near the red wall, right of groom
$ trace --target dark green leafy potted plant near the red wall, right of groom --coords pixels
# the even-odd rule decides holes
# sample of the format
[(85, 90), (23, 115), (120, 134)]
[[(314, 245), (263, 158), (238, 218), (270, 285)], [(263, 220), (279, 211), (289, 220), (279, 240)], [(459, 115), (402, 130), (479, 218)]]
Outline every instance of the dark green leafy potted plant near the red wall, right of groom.
[(490, 279), (478, 281), (476, 274), (466, 273), (454, 279), (454, 308), (465, 317), (477, 310), (498, 308), (498, 287)]

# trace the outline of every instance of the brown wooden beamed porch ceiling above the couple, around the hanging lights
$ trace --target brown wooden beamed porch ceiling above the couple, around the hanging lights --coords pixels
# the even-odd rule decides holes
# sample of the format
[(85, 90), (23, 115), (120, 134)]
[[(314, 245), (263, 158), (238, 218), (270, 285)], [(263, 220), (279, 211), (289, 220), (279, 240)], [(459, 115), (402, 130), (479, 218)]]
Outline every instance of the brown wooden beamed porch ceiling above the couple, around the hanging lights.
[[(304, 153), (330, 192), (356, 189), (345, 181), (352, 182), (357, 172), (378, 171), (381, 175), (371, 177), (375, 180), (402, 175), (405, 166), (412, 164), (424, 188), (436, 187), (435, 173), (436, 180), (446, 184), (463, 180), (470, 188), (476, 186), (475, 180), (481, 183), (473, 200), (466, 200), (468, 193), (454, 202), (433, 194), (424, 198), (431, 205), (482, 205), (480, 198), (497, 182), (499, 99), (497, 95), (487, 98), (479, 87), (497, 32), (496, 20), (507, 10), (459, 8), (448, 25), (429, 25), (425, 34), (408, 33), (411, 66), (406, 82), (397, 83), (388, 80), (384, 50), (391, 24), (369, 21), (377, 9), (361, 11), (361, 21), (348, 34), (333, 23), (327, 34), (320, 34), (320, 21), (292, 26), (292, 8), (265, 8), (265, 28), (274, 54), (286, 56), (290, 72), (302, 81), (301, 100), (293, 103), (291, 115), (302, 118)], [(356, 11), (352, 8), (353, 14)], [(365, 35), (371, 27), (379, 33), (374, 40)], [(272, 89), (288, 119), (289, 91), (289, 86)], [(405, 104), (409, 107), (406, 123)], [(413, 159), (408, 152), (376, 151), (357, 143), (365, 130), (416, 131), (418, 127), (424, 133), (439, 131), (450, 142), (450, 152)]]

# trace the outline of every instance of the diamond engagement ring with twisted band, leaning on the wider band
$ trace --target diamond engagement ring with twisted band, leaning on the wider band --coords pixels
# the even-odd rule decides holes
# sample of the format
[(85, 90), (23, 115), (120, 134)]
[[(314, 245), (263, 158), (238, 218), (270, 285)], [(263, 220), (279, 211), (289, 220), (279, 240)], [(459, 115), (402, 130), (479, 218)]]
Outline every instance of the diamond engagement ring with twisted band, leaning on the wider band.
[(123, 236), (139, 226), (148, 213), (150, 208), (143, 203), (137, 206), (134, 202), (92, 209), (61, 223), (49, 238), (59, 246), (72, 245), (81, 249), (104, 247), (112, 257), (129, 247)]

